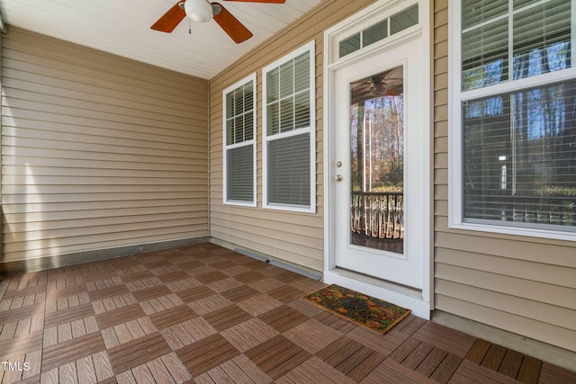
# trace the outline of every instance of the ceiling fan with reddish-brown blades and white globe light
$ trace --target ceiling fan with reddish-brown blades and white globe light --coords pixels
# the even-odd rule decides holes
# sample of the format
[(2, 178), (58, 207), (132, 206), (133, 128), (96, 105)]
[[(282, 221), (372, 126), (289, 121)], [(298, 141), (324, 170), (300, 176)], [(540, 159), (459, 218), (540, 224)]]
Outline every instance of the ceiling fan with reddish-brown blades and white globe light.
[[(243, 3), (267, 3), (284, 4), (285, 0), (226, 0)], [(238, 21), (232, 13), (220, 3), (211, 3), (209, 0), (185, 0), (178, 1), (172, 8), (152, 24), (150, 29), (155, 31), (171, 32), (175, 27), (188, 16), (193, 22), (209, 22), (214, 19), (218, 22), (222, 30), (228, 33), (229, 37), (236, 43), (246, 41), (252, 37), (244, 24)]]

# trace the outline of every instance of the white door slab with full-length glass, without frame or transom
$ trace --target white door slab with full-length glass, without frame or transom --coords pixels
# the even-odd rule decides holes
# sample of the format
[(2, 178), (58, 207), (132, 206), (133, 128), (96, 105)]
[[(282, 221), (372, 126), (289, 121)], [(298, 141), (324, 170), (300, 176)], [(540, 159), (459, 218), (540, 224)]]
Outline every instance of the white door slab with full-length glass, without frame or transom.
[(337, 268), (421, 290), (428, 145), (419, 39), (335, 71)]

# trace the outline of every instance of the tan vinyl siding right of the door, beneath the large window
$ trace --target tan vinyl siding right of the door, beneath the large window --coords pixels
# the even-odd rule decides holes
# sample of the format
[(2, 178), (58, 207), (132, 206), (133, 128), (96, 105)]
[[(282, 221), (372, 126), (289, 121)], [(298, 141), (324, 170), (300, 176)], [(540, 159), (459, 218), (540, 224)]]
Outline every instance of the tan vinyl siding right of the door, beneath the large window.
[(448, 228), (448, 1), (434, 11), (436, 308), (576, 351), (576, 244)]

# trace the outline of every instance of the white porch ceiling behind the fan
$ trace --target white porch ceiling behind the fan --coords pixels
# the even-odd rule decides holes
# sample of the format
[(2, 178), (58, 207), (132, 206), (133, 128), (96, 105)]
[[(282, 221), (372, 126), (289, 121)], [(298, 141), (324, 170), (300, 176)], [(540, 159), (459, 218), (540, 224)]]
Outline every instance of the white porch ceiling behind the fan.
[[(172, 33), (150, 30), (150, 25), (176, 0), (0, 0), (0, 12), (8, 31), (14, 25), (210, 79), (322, 1), (258, 4), (220, 0), (254, 33), (240, 44), (213, 20), (189, 23), (184, 18)], [(192, 33), (188, 32), (189, 26)]]

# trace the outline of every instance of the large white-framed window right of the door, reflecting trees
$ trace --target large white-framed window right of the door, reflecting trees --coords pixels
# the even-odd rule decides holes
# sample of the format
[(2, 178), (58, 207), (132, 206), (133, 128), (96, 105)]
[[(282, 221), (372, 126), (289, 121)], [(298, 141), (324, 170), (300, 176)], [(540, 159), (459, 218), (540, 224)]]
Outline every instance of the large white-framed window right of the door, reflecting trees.
[(454, 3), (451, 224), (573, 238), (576, 6)]

